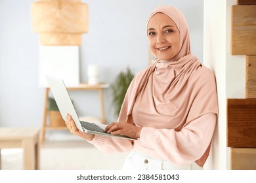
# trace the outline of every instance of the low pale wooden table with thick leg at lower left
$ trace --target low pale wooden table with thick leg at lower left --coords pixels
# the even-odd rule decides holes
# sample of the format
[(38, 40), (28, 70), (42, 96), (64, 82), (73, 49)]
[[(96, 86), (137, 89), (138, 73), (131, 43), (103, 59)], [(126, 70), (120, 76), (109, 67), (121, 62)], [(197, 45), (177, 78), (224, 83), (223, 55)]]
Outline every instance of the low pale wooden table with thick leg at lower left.
[(24, 169), (39, 169), (39, 133), (39, 128), (0, 127), (0, 150), (23, 148)]

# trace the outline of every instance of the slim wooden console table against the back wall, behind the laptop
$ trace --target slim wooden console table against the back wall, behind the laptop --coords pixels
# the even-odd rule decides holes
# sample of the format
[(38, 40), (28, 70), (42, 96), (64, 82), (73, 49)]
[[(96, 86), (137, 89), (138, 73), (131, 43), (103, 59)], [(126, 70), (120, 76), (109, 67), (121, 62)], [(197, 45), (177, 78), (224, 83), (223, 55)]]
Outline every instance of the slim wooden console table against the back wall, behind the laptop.
[[(98, 91), (99, 97), (100, 97), (100, 110), (101, 110), (101, 122), (104, 124), (106, 122), (105, 120), (105, 110), (104, 110), (104, 96), (103, 96), (103, 90), (104, 88), (108, 88), (108, 84), (96, 84), (96, 85), (90, 85), (90, 84), (79, 84), (79, 86), (72, 86), (68, 87), (67, 90), (95, 90)], [(67, 127), (51, 127), (47, 125), (47, 101), (48, 101), (48, 95), (49, 95), (50, 88), (45, 88), (45, 104), (43, 107), (43, 127), (42, 127), (42, 137), (41, 142), (45, 142), (45, 131), (46, 130), (64, 130), (67, 129)]]

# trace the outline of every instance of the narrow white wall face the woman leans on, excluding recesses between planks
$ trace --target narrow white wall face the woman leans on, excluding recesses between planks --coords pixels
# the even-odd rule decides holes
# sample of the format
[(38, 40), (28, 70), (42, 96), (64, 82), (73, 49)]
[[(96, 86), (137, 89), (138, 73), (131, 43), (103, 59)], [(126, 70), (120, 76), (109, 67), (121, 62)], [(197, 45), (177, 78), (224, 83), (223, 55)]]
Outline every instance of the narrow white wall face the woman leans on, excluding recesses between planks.
[(211, 158), (205, 168), (226, 169), (226, 2), (205, 0), (203, 10), (203, 63), (215, 72), (219, 101)]

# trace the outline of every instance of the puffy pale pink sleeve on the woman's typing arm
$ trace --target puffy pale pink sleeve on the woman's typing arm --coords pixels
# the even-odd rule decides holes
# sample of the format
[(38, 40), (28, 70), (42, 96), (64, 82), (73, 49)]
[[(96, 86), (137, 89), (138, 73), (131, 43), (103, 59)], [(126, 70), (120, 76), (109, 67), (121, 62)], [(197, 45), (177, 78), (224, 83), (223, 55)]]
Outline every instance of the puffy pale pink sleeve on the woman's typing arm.
[(203, 156), (211, 142), (216, 121), (216, 114), (208, 113), (193, 120), (181, 131), (143, 127), (140, 141), (150, 144), (159, 157), (183, 167)]

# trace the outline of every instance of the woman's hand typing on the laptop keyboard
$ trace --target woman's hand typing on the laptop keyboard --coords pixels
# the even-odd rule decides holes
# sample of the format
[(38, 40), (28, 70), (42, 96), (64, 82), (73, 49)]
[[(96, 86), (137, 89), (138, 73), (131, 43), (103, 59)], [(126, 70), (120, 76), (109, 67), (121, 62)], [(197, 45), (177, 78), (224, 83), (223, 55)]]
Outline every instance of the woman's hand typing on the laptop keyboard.
[(139, 139), (141, 129), (142, 127), (128, 124), (126, 122), (113, 122), (106, 127), (105, 132), (111, 133), (112, 135), (125, 135), (133, 139)]

